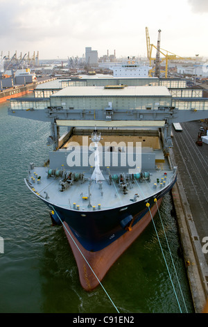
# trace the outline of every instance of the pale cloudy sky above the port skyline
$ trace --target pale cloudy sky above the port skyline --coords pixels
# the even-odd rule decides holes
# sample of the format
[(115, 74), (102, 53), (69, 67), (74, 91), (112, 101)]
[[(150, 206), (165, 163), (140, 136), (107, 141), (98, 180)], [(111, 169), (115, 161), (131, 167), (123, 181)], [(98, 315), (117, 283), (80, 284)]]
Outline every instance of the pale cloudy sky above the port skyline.
[(208, 0), (0, 0), (0, 22), (3, 55), (146, 56), (147, 26), (153, 45), (161, 29), (162, 49), (208, 57)]

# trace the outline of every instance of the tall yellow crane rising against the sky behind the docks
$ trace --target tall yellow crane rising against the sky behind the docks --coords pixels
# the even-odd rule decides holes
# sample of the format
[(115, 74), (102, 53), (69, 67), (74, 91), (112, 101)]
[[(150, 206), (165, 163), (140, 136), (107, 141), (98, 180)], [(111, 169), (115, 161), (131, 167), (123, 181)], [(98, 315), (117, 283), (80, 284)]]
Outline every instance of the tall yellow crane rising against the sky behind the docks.
[[(150, 44), (150, 36), (149, 36), (148, 27), (146, 27), (146, 47), (147, 47), (147, 56), (150, 61), (150, 66), (152, 66), (152, 62), (154, 63), (156, 61), (156, 58), (152, 57), (153, 48), (155, 48), (157, 50), (158, 47), (156, 47), (153, 44)], [(166, 51), (166, 54), (164, 53), (164, 51)], [(164, 61), (166, 62), (166, 69), (162, 70), (162, 72), (165, 72), (166, 78), (168, 77), (168, 60), (191, 60), (192, 59), (192, 58), (188, 58), (188, 57), (183, 58), (183, 57), (177, 56), (177, 54), (173, 54), (173, 52), (162, 49), (161, 47), (159, 47), (159, 52), (164, 56), (164, 58), (161, 58), (160, 63), (162, 63)], [(150, 70), (150, 72), (149, 72), (150, 77), (152, 77), (153, 72), (155, 72), (155, 67), (153, 67)]]

